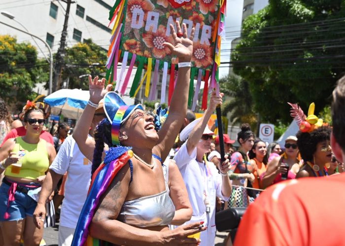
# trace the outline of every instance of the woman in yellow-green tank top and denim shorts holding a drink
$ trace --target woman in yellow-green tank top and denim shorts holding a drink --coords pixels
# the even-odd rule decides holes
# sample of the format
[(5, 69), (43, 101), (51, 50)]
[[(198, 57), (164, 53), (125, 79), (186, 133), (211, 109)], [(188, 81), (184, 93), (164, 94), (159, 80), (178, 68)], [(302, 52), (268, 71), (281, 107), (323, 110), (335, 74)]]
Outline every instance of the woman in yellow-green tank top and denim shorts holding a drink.
[(21, 238), (25, 245), (39, 245), (43, 228), (37, 229), (32, 218), (37, 205), (32, 194), (40, 187), (56, 155), (54, 146), (39, 138), (45, 122), (43, 111), (30, 102), (24, 110), (26, 135), (8, 139), (0, 149), (0, 173), (4, 172), (0, 186), (4, 245), (19, 246)]

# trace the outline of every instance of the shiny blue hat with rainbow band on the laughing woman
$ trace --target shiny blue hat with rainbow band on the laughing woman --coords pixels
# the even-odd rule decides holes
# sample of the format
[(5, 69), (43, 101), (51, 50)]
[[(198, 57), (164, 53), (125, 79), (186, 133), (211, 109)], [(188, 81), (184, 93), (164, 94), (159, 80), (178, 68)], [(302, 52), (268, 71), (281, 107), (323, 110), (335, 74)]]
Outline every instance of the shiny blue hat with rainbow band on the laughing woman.
[(104, 112), (111, 122), (111, 142), (113, 145), (120, 145), (119, 130), (121, 123), (124, 123), (136, 109), (144, 110), (141, 104), (127, 105), (116, 92), (107, 92), (104, 95)]

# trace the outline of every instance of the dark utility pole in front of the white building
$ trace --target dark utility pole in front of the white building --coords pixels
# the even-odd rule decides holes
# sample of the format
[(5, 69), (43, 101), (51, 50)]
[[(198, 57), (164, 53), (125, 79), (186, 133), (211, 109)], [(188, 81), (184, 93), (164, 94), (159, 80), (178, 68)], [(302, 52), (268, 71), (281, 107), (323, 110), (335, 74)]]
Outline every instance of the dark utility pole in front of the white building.
[(55, 92), (59, 90), (60, 88), (60, 81), (61, 81), (61, 73), (64, 66), (64, 57), (65, 57), (65, 45), (66, 45), (66, 36), (67, 36), (67, 27), (69, 23), (69, 9), (70, 4), (74, 3), (72, 0), (61, 0), (63, 2), (67, 3), (66, 8), (66, 15), (65, 15), (65, 22), (64, 22), (64, 28), (61, 33), (61, 39), (60, 39), (60, 47), (58, 49), (58, 52), (56, 53), (55, 58), (55, 75), (54, 75), (54, 83), (53, 83), (53, 91)]

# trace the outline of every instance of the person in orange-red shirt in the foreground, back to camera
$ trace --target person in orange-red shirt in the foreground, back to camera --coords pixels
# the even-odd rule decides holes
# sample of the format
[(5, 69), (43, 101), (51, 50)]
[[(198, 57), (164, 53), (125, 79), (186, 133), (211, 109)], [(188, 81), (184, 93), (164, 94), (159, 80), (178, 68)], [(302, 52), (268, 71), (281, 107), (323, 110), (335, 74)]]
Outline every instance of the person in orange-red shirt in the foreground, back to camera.
[[(333, 91), (331, 147), (345, 160), (345, 77)], [(248, 208), (237, 245), (345, 245), (345, 173), (276, 184)], [(250, 236), (248, 236), (250, 232)]]

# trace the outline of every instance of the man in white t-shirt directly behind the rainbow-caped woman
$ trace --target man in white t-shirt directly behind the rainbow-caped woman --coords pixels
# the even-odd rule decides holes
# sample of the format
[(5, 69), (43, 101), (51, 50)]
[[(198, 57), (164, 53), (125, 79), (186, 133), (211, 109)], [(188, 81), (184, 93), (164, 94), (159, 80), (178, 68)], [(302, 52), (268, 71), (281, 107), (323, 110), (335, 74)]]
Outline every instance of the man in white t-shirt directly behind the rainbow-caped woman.
[[(104, 117), (103, 103), (100, 102), (92, 125), (95, 126)], [(91, 127), (89, 134), (93, 133), (93, 129), (94, 127)], [(37, 227), (40, 224), (37, 224), (35, 217), (45, 215), (45, 201), (55, 189), (60, 178), (67, 172), (65, 198), (60, 212), (59, 246), (70, 246), (72, 243), (74, 230), (91, 182), (91, 166), (92, 162), (80, 152), (78, 145), (70, 135), (61, 145), (59, 153), (50, 165), (49, 172), (42, 184), (34, 212), (34, 222)]]

